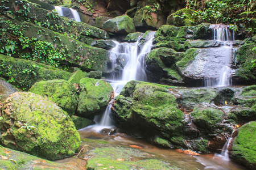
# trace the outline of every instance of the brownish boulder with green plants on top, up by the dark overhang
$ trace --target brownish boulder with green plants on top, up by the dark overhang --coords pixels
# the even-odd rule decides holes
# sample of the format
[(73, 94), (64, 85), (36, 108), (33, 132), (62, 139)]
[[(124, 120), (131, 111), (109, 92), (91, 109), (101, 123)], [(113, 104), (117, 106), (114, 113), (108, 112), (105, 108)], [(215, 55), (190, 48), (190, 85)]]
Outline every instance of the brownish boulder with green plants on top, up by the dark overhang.
[(158, 29), (166, 23), (166, 17), (155, 6), (144, 6), (134, 16), (135, 27)]

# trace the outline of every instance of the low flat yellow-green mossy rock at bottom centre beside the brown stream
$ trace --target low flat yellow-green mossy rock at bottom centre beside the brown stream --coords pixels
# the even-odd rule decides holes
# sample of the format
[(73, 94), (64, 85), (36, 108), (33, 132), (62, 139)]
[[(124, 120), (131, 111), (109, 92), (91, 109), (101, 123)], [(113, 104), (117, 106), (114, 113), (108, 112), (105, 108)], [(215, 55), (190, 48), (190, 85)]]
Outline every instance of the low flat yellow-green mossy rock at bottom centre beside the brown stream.
[[(135, 148), (102, 147), (88, 155), (93, 155), (88, 160), (88, 169), (179, 169)], [(118, 159), (122, 161), (117, 161)]]

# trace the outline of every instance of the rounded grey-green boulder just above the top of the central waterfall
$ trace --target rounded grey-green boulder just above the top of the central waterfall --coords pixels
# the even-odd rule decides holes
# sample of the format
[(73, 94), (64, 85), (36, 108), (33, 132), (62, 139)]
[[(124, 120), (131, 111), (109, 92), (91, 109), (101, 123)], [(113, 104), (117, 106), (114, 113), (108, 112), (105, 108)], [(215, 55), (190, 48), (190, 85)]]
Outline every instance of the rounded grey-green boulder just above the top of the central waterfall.
[(127, 15), (117, 16), (113, 19), (107, 20), (103, 24), (103, 29), (113, 33), (132, 33), (135, 32), (133, 19)]

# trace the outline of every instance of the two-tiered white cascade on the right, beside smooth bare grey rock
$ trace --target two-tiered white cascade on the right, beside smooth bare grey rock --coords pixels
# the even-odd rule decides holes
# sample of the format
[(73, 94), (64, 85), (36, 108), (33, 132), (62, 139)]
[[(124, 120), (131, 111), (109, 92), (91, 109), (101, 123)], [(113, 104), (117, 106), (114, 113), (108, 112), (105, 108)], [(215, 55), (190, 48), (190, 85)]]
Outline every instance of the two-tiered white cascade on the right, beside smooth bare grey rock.
[(228, 25), (222, 24), (210, 25), (209, 28), (213, 29), (213, 39), (222, 42), (222, 46), (217, 48), (221, 52), (218, 53), (218, 57), (220, 58), (222, 69), (214, 70), (216, 72), (215, 75), (217, 75), (215, 77), (206, 76), (204, 78), (204, 86), (230, 86), (232, 84), (231, 75), (233, 73), (230, 65), (233, 58), (232, 41), (234, 41), (234, 31), (230, 32)]

